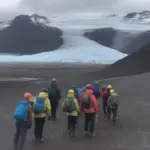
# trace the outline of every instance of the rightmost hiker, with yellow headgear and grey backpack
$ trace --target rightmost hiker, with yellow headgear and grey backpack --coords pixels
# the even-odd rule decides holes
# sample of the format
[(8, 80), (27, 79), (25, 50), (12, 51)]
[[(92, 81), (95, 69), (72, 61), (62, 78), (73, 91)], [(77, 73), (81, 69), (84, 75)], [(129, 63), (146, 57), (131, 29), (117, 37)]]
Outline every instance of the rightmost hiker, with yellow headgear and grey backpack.
[(112, 112), (112, 122), (113, 122), (113, 124), (115, 124), (116, 123), (119, 100), (118, 100), (118, 94), (113, 89), (110, 90), (108, 105), (111, 108), (111, 112)]

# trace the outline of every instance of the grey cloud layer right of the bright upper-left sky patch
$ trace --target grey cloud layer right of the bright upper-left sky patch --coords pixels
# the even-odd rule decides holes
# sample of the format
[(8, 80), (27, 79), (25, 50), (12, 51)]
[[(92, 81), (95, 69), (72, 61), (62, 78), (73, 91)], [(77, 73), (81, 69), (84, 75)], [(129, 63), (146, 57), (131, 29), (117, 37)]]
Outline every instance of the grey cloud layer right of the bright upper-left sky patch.
[(50, 14), (131, 12), (149, 9), (150, 0), (22, 0), (30, 11)]

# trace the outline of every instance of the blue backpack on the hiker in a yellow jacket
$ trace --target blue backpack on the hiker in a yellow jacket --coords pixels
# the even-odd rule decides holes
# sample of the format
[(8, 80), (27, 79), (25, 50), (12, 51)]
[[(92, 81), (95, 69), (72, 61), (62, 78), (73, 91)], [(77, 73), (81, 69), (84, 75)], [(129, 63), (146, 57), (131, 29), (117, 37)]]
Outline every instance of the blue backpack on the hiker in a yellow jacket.
[(45, 112), (44, 102), (45, 102), (45, 99), (40, 98), (40, 97), (36, 98), (36, 102), (33, 106), (33, 112), (35, 114), (41, 114)]

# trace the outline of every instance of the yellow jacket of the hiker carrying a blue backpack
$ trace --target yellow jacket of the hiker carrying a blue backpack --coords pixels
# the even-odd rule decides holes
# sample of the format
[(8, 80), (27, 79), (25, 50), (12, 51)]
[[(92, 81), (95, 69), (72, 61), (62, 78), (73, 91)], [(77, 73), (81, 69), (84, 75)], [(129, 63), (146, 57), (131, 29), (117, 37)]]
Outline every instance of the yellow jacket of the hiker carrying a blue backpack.
[[(44, 102), (45, 113), (41, 113), (38, 115), (34, 114), (34, 118), (44, 118), (46, 116), (51, 116), (51, 103), (50, 103), (50, 100), (48, 98), (48, 93), (41, 92), (41, 93), (39, 93), (39, 97), (45, 99), (45, 102)], [(34, 104), (36, 102), (36, 98), (32, 99), (32, 102), (33, 102), (33, 107), (34, 107)]]

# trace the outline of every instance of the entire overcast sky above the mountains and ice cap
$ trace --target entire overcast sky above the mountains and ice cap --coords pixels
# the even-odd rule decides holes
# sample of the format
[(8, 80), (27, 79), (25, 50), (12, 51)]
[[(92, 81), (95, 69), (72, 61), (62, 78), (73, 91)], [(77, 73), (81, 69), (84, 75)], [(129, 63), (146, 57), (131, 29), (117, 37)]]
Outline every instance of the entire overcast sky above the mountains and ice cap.
[(150, 9), (150, 0), (0, 0), (0, 18), (20, 13), (131, 12)]

